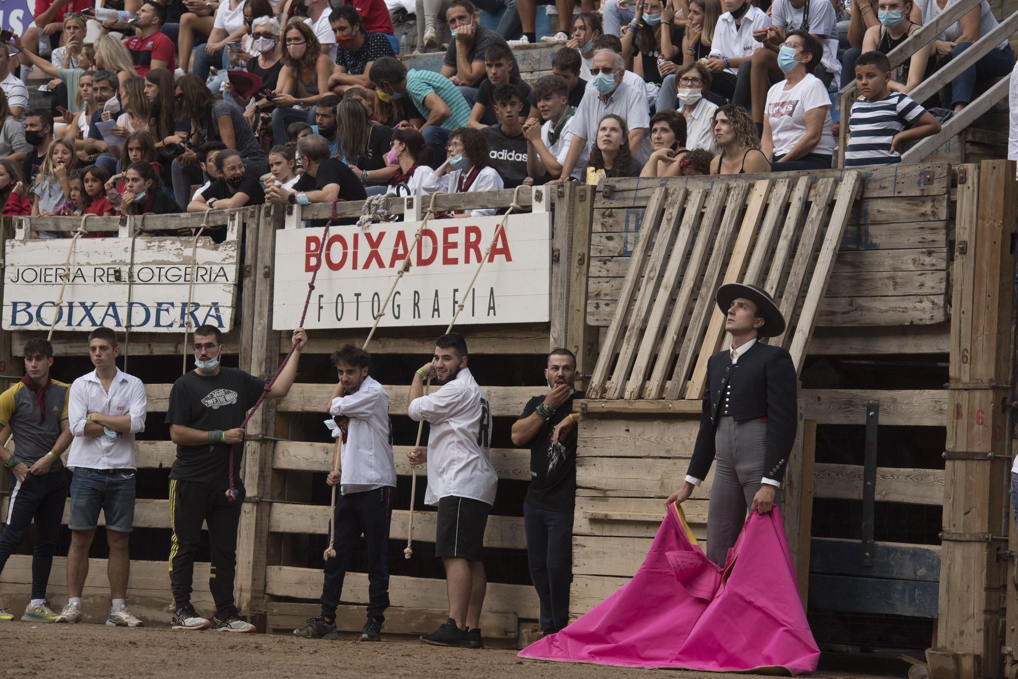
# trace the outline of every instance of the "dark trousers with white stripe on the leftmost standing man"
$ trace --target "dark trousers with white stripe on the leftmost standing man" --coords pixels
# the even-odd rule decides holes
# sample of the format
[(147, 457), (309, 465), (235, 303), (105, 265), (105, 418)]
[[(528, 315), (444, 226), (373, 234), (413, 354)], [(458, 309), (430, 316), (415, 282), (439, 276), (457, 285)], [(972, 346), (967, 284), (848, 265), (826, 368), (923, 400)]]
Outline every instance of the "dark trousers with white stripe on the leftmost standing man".
[[(30, 465), (31, 467), (31, 465)], [(53, 555), (60, 540), (60, 519), (63, 518), (64, 501), (70, 484), (64, 468), (49, 474), (33, 476), (18, 481), (10, 475), (10, 503), (7, 518), (0, 534), (0, 572), (7, 565), (11, 553), (21, 545), (24, 534), (36, 519), (36, 548), (32, 554), (32, 598), (46, 599), (46, 585), (50, 581)]]

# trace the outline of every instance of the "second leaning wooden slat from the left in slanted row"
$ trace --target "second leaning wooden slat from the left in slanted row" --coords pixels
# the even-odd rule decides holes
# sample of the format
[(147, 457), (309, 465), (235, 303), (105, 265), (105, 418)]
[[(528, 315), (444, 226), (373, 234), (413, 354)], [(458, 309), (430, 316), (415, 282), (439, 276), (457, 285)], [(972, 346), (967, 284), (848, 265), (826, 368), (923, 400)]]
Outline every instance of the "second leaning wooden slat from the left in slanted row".
[[(665, 258), (672, 250), (672, 240), (675, 237), (676, 229), (679, 227), (685, 202), (686, 190), (684, 188), (676, 189), (668, 198), (664, 217), (658, 225), (654, 248), (651, 251), (651, 259), (646, 262), (643, 275), (639, 280), (639, 293), (636, 295), (636, 302), (632, 306), (629, 327), (622, 338), (619, 358), (615, 362), (615, 370), (612, 373), (611, 382), (608, 384), (606, 394), (608, 398), (618, 398), (622, 395), (622, 390), (625, 388), (629, 378), (629, 369), (636, 359), (637, 343), (642, 337), (640, 328), (646, 322), (645, 319), (647, 312), (651, 310), (651, 303), (659, 296), (666, 298), (672, 296), (671, 289), (662, 289), (659, 292), (659, 283), (664, 277), (665, 272), (663, 267), (666, 263)], [(634, 259), (633, 261), (638, 260)]]

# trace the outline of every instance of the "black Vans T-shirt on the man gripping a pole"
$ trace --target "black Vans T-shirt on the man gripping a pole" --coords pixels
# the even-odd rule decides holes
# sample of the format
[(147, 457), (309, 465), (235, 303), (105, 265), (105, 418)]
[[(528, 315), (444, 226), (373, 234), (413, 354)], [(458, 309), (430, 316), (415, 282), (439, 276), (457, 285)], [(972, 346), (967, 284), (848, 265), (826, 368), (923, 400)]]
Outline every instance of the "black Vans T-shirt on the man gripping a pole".
[[(226, 431), (243, 424), (247, 411), (262, 395), (265, 380), (237, 368), (220, 367), (213, 377), (191, 370), (177, 378), (170, 390), (166, 424), (183, 425), (202, 431)], [(233, 483), (240, 487), (243, 445), (233, 451)], [(228, 443), (178, 445), (171, 479), (191, 481), (210, 490), (229, 487), (230, 445)]]

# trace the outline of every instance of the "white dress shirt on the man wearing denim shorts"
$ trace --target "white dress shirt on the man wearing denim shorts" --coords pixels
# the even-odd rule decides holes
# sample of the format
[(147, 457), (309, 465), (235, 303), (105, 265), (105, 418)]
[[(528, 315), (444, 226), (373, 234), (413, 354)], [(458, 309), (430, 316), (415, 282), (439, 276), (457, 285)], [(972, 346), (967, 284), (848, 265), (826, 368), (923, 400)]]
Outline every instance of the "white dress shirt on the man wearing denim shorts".
[[(70, 420), (70, 442), (67, 469), (75, 467), (93, 470), (132, 470), (134, 462), (134, 434), (145, 431), (148, 399), (145, 384), (137, 377), (117, 368), (110, 390), (103, 388), (96, 371), (82, 375), (70, 385), (67, 419)], [(102, 415), (130, 415), (130, 431), (111, 441), (106, 436), (86, 436), (84, 425), (90, 413)]]

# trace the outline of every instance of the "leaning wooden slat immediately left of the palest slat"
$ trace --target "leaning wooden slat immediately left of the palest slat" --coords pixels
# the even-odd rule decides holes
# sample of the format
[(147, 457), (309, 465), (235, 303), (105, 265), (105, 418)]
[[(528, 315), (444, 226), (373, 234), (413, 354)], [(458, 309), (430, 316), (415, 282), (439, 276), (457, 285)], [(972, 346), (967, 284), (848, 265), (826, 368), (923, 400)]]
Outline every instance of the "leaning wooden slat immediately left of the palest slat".
[[(732, 188), (729, 190), (728, 202), (725, 203), (725, 217), (722, 219), (721, 228), (715, 237), (714, 250), (711, 252), (711, 259), (703, 271), (699, 296), (689, 317), (689, 324), (686, 326), (686, 334), (682, 340), (682, 347), (679, 349), (675, 369), (672, 371), (672, 383), (665, 393), (666, 398), (677, 398), (681, 390), (685, 388), (685, 378), (692, 369), (693, 360), (696, 358), (695, 352), (700, 346), (708, 319), (715, 308), (714, 294), (718, 289), (721, 267), (728, 255), (728, 246), (735, 231), (735, 224), (742, 214), (742, 204), (748, 191), (749, 184), (741, 181), (732, 184)], [(701, 229), (700, 237), (702, 238), (703, 235)], [(651, 379), (655, 380), (654, 374), (652, 374)]]

